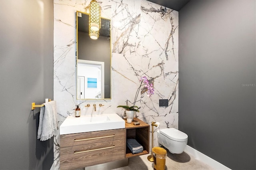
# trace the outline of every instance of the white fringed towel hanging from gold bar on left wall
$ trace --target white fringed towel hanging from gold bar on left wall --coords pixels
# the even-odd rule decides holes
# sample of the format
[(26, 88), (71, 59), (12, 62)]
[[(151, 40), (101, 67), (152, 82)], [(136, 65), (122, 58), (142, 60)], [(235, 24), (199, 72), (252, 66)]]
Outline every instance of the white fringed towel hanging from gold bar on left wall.
[(37, 138), (44, 141), (50, 139), (58, 130), (56, 101), (44, 103), (40, 109)]

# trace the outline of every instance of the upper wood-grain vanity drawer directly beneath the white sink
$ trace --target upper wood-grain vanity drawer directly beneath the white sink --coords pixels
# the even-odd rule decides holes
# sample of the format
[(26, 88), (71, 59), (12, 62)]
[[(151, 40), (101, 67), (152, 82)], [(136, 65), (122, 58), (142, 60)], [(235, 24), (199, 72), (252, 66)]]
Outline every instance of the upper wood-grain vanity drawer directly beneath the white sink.
[(125, 138), (125, 129), (102, 130), (60, 135), (60, 146), (76, 146)]

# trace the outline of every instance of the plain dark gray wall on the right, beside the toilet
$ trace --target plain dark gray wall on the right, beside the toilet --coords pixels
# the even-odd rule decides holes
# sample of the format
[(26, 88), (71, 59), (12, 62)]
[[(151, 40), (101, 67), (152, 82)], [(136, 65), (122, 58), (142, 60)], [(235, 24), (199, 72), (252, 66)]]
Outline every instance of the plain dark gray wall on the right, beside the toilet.
[(179, 11), (179, 129), (232, 169), (256, 169), (255, 8), (191, 0)]

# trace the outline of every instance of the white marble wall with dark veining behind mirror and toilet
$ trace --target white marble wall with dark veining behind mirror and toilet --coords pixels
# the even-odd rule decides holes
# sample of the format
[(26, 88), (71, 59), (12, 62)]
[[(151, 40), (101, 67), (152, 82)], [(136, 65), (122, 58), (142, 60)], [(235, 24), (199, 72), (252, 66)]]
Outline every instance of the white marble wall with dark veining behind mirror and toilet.
[[(112, 99), (76, 100), (75, 13), (89, 13), (90, 0), (54, 0), (54, 100), (59, 126), (68, 115), (74, 115), (76, 104), (80, 105), (81, 115), (124, 115), (124, 110), (116, 107), (133, 103), (139, 79), (146, 76), (154, 84), (155, 94), (148, 97), (141, 89), (136, 101), (141, 107), (138, 118), (148, 124), (160, 122), (160, 128), (178, 128), (178, 12), (146, 0), (98, 0), (98, 3), (102, 17), (112, 20)], [(159, 99), (168, 99), (168, 107), (159, 107)], [(84, 107), (88, 103), (97, 106), (102, 103), (104, 107), (97, 107), (94, 112), (92, 107)], [(156, 136), (154, 146), (158, 146)], [(59, 150), (57, 132), (56, 169), (59, 169)]]

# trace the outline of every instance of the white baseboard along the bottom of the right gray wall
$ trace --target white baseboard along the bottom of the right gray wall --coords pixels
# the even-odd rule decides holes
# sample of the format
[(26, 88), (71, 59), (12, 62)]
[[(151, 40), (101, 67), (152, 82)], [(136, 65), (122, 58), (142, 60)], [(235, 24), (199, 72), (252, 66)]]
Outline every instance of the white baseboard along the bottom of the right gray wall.
[(205, 154), (202, 154), (198, 150), (195, 150), (194, 148), (192, 148), (188, 145), (185, 148), (185, 152), (191, 154), (197, 160), (200, 160), (200, 161), (204, 162), (205, 164), (208, 164), (209, 166), (211, 166), (215, 170), (230, 170), (230, 168), (222, 165), (220, 162), (217, 162), (216, 160), (210, 158), (209, 156), (206, 156)]

